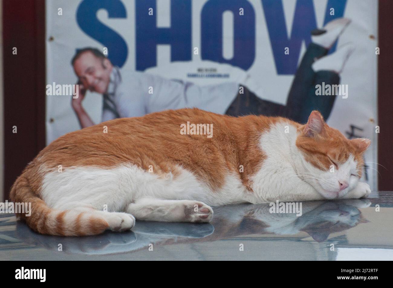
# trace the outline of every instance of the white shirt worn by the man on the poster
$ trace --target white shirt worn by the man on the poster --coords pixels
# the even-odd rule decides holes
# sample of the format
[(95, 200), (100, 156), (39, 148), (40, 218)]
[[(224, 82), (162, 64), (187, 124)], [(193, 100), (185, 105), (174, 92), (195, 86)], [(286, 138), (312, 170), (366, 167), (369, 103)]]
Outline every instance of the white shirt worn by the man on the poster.
[(236, 82), (198, 86), (114, 67), (103, 97), (102, 121), (192, 107), (225, 114), (238, 92)]

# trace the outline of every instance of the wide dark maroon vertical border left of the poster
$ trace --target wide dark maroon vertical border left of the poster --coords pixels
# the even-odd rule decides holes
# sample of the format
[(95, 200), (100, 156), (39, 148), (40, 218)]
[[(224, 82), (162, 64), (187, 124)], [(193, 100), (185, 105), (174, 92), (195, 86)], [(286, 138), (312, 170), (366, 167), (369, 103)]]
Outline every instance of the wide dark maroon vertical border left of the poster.
[[(3, 0), (3, 42), (7, 199), (17, 176), (45, 146), (44, 0)], [(13, 55), (13, 47), (17, 55)]]

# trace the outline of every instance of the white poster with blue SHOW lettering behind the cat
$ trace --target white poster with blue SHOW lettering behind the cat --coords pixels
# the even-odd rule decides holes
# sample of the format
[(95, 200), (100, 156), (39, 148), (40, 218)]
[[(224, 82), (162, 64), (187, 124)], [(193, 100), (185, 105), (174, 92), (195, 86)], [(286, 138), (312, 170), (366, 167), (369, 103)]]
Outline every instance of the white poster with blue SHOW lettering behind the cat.
[[(377, 11), (365, 0), (47, 0), (47, 144), (167, 109), (300, 123), (319, 110), (347, 138), (371, 139), (363, 181), (376, 190)], [(335, 38), (318, 37), (343, 23)], [(92, 58), (75, 64), (80, 51)], [(78, 79), (97, 57), (110, 79)], [(119, 81), (130, 88), (115, 98)]]

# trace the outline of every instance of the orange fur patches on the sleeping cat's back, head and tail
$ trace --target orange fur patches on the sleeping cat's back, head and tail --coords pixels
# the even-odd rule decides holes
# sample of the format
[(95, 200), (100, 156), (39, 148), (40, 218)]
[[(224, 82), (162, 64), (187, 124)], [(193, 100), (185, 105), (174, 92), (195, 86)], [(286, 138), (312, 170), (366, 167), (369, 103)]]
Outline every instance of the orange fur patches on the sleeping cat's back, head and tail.
[[(54, 211), (40, 199), (46, 172), (57, 171), (58, 165), (62, 165), (62, 170), (66, 171), (70, 167), (110, 169), (132, 163), (146, 171), (152, 165), (154, 173), (163, 176), (172, 172), (176, 177), (176, 167), (181, 165), (207, 183), (213, 193), (224, 185), (227, 171), (237, 174), (244, 187), (252, 193), (250, 178), (266, 158), (258, 147), (259, 138), (280, 120), (283, 119), (230, 117), (199, 109), (168, 110), (143, 117), (110, 120), (68, 133), (50, 143), (15, 181), (11, 188), (11, 200), (31, 202), (32, 215), (18, 216), (35, 231), (53, 235), (94, 235), (108, 228), (104, 219), (84, 217), (90, 215), (89, 212), (81, 212), (67, 230), (64, 218), (69, 211)], [(213, 124), (214, 136), (181, 135), (180, 125), (187, 121)], [(301, 131), (306, 128), (288, 119), (285, 121)], [(107, 126), (108, 133), (103, 132), (104, 126)], [(345, 139), (340, 132), (327, 125), (317, 138), (299, 137), (297, 145), (300, 150), (308, 152), (307, 161), (320, 169), (329, 167), (328, 155), (336, 161), (343, 161), (348, 157), (348, 152), (354, 153), (359, 158), (359, 165), (362, 165), (356, 148), (361, 143)], [(244, 172), (239, 172), (240, 165), (244, 166)], [(43, 167), (46, 167), (45, 171)], [(86, 218), (89, 219), (87, 223), (83, 220)]]

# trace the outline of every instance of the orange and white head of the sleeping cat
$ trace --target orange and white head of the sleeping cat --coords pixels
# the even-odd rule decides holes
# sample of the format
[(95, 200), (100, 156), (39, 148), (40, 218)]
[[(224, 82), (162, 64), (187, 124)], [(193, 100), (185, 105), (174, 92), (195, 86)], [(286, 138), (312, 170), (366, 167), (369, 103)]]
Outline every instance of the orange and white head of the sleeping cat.
[(341, 198), (361, 178), (363, 153), (370, 143), (365, 138), (345, 138), (323, 121), (320, 112), (312, 111), (307, 124), (298, 128), (296, 146), (302, 162), (298, 175), (325, 198)]

